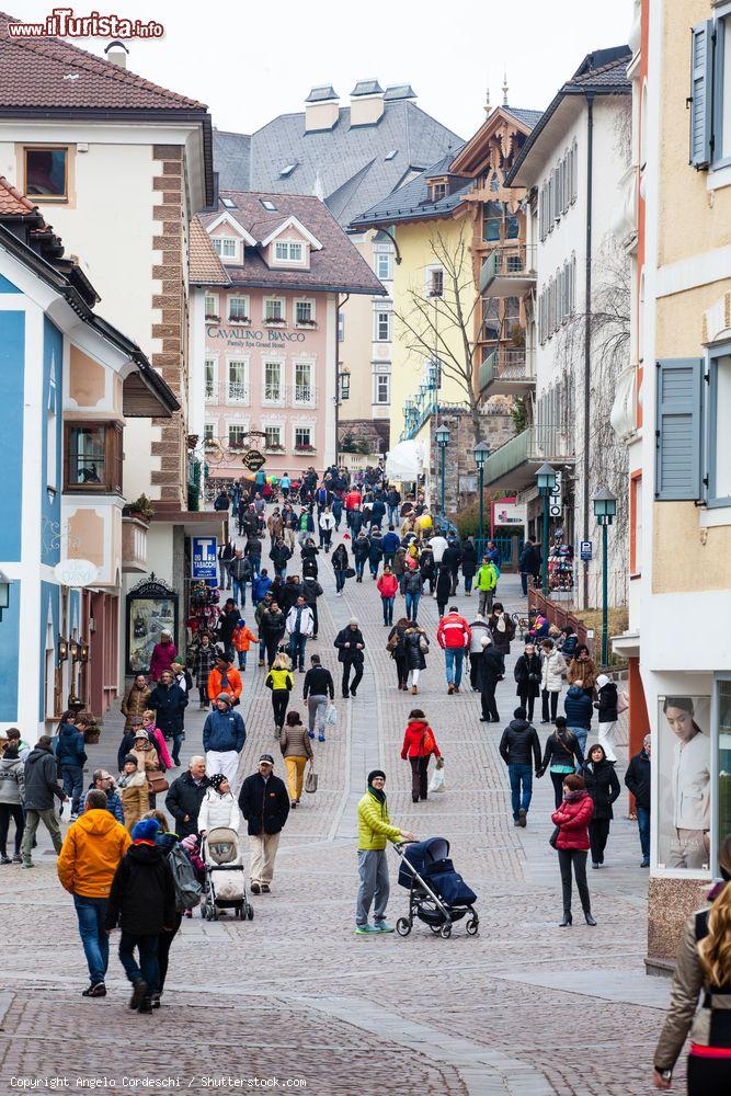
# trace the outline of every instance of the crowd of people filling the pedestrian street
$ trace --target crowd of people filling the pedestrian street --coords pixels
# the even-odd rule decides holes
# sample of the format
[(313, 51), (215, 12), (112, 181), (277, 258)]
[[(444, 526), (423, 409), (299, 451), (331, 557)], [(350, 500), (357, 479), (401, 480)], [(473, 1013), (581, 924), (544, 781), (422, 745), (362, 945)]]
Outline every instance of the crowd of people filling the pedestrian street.
[[(238, 529), (238, 537), (219, 552), (219, 586), (230, 596), (213, 623), (192, 629), (184, 655), (163, 632), (149, 672), (138, 674), (125, 690), (116, 775), (98, 768), (84, 788), (90, 721), (83, 712), (66, 712), (56, 735), (42, 737), (33, 749), (20, 731), (7, 733), (0, 757), (0, 864), (32, 867), (37, 827), (44, 823), (59, 854), (59, 879), (73, 895), (89, 968), (84, 995), (106, 993), (108, 933), (118, 926), (119, 960), (133, 986), (130, 1006), (140, 1012), (159, 1006), (171, 945), (183, 916), (192, 914), (196, 882), (202, 886), (209, 831), (224, 826), (239, 832), (245, 824), (251, 892), (271, 892), (281, 833), (290, 811), (301, 806), (305, 787), (317, 787), (316, 746), (325, 749), (328, 732), (338, 721), (335, 661), (343, 699), (356, 699), (363, 681), (368, 651), (357, 617), (336, 632), (329, 653), (319, 647), (310, 650), (318, 639), (318, 600), (325, 589), (343, 596), (349, 581), (372, 584), (373, 619), (382, 617), (387, 629), (384, 646), (393, 662), (397, 690), (423, 693), (422, 675), (443, 652), (446, 694), (476, 694), (479, 719), (502, 726), (499, 752), (507, 769), (515, 826), (527, 825), (534, 780), (549, 777), (555, 808), (550, 843), (562, 893), (559, 925), (572, 925), (575, 882), (584, 920), (595, 926), (586, 867), (590, 858), (596, 870), (604, 868), (605, 856), (612, 858), (613, 804), (623, 785), (635, 797), (641, 866), (650, 861), (651, 739), (648, 735), (630, 758), (623, 777), (615, 745), (626, 700), (616, 682), (601, 672), (571, 627), (558, 629), (539, 613), (521, 615), (505, 608), (498, 595), (501, 557), (494, 543), (478, 552), (472, 537), (460, 538), (438, 523), (420, 499), (404, 504), (378, 475), (350, 483), (338, 469), (329, 469), (322, 479), (282, 477), (276, 491), (271, 482), (265, 486), (269, 509), (256, 481), (237, 484), (230, 495), (221, 492), (217, 498), (216, 507), (230, 512)], [(330, 562), (324, 570), (323, 556)], [(519, 560), (524, 590), (539, 567), (540, 555), (528, 541)], [(453, 601), (458, 592), (477, 596), (473, 615), (461, 613)], [(424, 620), (431, 614), (422, 613), (420, 621), (420, 605), (427, 596), (438, 613), (433, 629)], [(275, 772), (276, 749), (260, 755), (255, 772), (245, 777), (241, 773), (247, 727), (237, 709), (252, 649), (271, 693), (272, 737), (284, 779)], [(506, 690), (499, 686), (509, 675), (509, 655), (516, 653), (511, 665), (517, 704), (512, 718), (504, 718), (498, 697), (504, 699)], [(433, 675), (430, 680), (433, 683)], [(186, 709), (196, 694), (199, 710), (206, 711), (203, 753), (191, 756), (184, 772), (175, 775)], [(536, 722), (546, 728), (545, 737), (534, 724), (537, 700)], [(409, 766), (414, 804), (426, 800), (444, 778), (445, 760), (427, 707), (422, 701), (410, 710), (400, 753)], [(592, 731), (597, 741), (590, 744)], [(393, 931), (386, 920), (386, 847), (389, 841), (414, 840), (391, 822), (385, 785), (385, 772), (373, 770), (357, 808), (358, 935)], [(66, 806), (71, 824), (64, 836), (58, 819)], [(11, 826), (14, 852), (9, 855)], [(728, 921), (711, 912), (703, 932), (696, 925), (686, 934), (676, 978), (690, 987), (684, 1019), (669, 1020), (661, 1039), (655, 1074), (660, 1087), (679, 1051), (693, 994), (697, 998), (704, 978), (730, 973), (719, 945), (723, 924), (728, 932)], [(716, 959), (705, 943), (709, 936)]]

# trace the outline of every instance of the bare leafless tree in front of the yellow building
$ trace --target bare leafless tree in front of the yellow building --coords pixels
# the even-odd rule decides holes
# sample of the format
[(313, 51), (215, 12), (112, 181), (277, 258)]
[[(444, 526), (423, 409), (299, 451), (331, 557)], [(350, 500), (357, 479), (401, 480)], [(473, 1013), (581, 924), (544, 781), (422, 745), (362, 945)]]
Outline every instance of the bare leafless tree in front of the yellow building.
[(400, 324), (397, 334), (411, 354), (422, 361), (437, 362), (442, 374), (456, 381), (469, 409), (477, 444), (484, 438), (484, 420), (473, 380), (476, 312), (479, 315), (481, 298), (464, 227), (455, 241), (437, 229), (430, 240), (430, 251), (434, 265), (443, 271), (442, 293), (430, 295), (423, 282), (412, 283), (403, 310), (396, 312)]

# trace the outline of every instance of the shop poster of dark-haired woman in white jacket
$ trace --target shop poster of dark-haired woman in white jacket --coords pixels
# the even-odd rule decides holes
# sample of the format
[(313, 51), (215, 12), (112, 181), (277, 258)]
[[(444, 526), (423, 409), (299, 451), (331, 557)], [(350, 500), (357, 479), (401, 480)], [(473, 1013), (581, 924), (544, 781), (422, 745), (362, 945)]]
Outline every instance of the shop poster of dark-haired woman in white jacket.
[(710, 867), (710, 697), (658, 698), (658, 866)]

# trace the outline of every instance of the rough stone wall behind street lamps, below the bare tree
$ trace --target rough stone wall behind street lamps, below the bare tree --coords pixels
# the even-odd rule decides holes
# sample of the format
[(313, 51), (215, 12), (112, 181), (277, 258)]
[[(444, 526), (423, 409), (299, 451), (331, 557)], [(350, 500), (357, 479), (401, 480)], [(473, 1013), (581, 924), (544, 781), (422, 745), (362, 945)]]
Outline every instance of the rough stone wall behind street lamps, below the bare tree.
[[(513, 418), (503, 408), (487, 407), (482, 412), (484, 441), (494, 452), (500, 445), (510, 441), (515, 433)], [(472, 420), (464, 408), (441, 408), (436, 416), (429, 423), (429, 444), (431, 448), (432, 477), (431, 501), (434, 511), (442, 504), (442, 457), (436, 444), (437, 425), (445, 425), (449, 431), (449, 445), (445, 454), (445, 503), (447, 514), (454, 520), (458, 511), (469, 505), (477, 495), (477, 466), (473, 448), (475, 435)], [(422, 435), (423, 436), (423, 435)], [(486, 502), (487, 505), (487, 502)]]

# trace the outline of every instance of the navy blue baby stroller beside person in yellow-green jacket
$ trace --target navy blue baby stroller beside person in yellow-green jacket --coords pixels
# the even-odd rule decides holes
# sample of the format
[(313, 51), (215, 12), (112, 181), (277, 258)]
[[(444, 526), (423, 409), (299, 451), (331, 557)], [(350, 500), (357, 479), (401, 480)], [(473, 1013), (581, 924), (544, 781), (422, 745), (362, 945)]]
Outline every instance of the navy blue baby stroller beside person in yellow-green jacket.
[(449, 859), (449, 842), (445, 837), (429, 837), (426, 841), (398, 842), (393, 847), (401, 857), (399, 887), (409, 890), (409, 916), (396, 922), (399, 936), (409, 935), (414, 914), (435, 936), (445, 940), (452, 936), (455, 921), (469, 914), (465, 927), (470, 936), (477, 936), (480, 918), (472, 905), (477, 894), (455, 871)]

